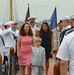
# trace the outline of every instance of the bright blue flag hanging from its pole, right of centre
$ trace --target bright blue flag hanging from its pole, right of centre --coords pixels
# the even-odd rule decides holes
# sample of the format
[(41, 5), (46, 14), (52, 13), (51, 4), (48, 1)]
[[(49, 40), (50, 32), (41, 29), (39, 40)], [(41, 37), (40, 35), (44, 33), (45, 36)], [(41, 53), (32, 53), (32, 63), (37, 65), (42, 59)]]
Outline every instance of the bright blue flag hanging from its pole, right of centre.
[(54, 12), (50, 18), (50, 29), (57, 27), (57, 13), (56, 13), (56, 7), (54, 9)]

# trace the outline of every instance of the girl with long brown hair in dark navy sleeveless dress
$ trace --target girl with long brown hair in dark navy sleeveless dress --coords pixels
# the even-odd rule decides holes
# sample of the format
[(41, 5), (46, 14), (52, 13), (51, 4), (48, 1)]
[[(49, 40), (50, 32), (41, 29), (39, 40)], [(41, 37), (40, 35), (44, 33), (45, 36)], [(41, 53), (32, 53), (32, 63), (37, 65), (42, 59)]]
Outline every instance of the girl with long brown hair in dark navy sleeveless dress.
[(48, 68), (49, 68), (50, 53), (51, 53), (51, 50), (54, 47), (53, 33), (49, 29), (49, 25), (48, 25), (47, 22), (44, 22), (41, 25), (39, 36), (42, 38), (41, 46), (45, 48), (45, 54), (46, 54), (46, 75), (47, 75)]

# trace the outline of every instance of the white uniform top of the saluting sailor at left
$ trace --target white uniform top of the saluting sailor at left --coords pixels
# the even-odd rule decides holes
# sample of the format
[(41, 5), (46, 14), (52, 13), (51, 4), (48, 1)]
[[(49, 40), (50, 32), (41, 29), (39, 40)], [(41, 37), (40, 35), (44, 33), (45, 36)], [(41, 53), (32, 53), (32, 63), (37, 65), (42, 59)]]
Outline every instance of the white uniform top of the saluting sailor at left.
[(5, 47), (15, 47), (15, 40), (12, 35), (11, 28), (3, 30), (3, 38), (5, 42)]

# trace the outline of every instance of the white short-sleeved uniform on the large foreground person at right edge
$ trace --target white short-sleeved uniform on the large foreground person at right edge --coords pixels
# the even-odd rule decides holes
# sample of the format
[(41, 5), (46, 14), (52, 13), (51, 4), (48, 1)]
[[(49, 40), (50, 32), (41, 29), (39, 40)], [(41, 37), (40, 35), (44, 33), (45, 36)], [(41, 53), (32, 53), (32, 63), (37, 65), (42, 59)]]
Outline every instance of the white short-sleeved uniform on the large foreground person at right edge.
[(74, 74), (74, 32), (64, 37), (56, 57), (69, 61), (70, 75)]

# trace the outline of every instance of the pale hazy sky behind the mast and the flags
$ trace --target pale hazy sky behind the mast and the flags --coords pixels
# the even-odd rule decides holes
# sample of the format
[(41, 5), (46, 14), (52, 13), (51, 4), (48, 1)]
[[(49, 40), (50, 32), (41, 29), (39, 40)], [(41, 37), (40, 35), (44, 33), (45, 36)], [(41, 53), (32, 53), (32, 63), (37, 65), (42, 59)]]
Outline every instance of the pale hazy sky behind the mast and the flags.
[[(0, 21), (9, 20), (10, 0), (0, 0)], [(74, 15), (74, 0), (12, 0), (13, 20), (24, 21), (28, 3), (30, 4), (30, 14), (36, 17), (36, 21), (50, 19), (55, 6), (57, 7), (57, 21), (67, 15)]]

